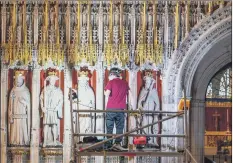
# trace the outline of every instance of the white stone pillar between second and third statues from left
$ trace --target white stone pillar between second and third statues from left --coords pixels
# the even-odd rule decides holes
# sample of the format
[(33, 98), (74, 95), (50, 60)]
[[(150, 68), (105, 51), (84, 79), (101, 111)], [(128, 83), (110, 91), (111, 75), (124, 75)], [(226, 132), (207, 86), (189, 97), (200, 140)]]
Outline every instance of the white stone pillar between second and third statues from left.
[(63, 139), (63, 163), (69, 163), (72, 156), (72, 132), (69, 89), (72, 87), (71, 70), (64, 69), (64, 139)]

